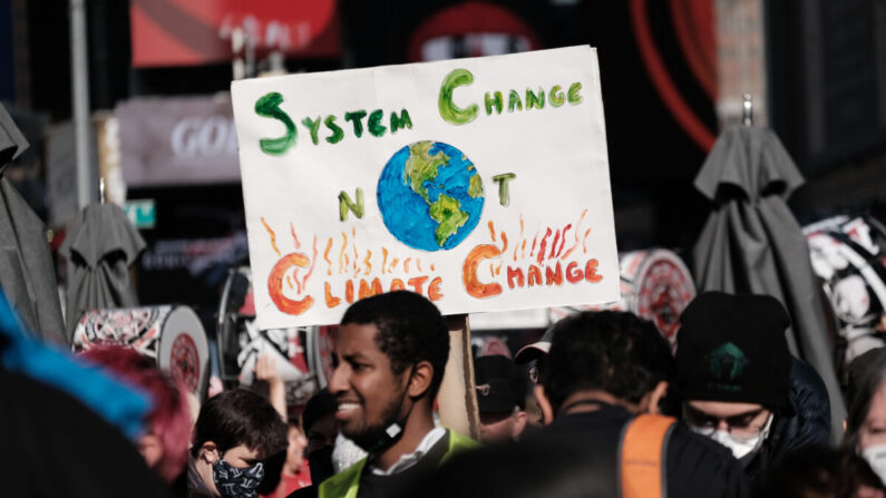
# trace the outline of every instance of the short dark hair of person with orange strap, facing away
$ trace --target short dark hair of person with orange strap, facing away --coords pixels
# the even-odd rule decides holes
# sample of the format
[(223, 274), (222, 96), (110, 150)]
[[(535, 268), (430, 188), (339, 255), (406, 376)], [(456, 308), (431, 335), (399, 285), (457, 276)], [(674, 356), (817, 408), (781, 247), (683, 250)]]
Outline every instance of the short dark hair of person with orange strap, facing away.
[(547, 365), (542, 384), (555, 409), (585, 390), (637, 403), (676, 371), (671, 346), (655, 325), (620, 311), (585, 311), (557, 322)]

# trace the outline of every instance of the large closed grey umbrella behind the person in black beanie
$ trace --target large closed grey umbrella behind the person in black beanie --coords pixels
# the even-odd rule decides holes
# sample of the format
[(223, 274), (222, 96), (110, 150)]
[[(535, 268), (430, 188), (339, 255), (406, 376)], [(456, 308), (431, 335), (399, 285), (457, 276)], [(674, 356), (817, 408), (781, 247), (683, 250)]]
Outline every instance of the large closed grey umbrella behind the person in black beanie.
[(830, 394), (831, 434), (846, 418), (809, 247), (787, 198), (804, 179), (770, 129), (740, 126), (718, 139), (695, 177), (713, 211), (693, 248), (699, 291), (769, 294), (791, 316), (788, 343)]

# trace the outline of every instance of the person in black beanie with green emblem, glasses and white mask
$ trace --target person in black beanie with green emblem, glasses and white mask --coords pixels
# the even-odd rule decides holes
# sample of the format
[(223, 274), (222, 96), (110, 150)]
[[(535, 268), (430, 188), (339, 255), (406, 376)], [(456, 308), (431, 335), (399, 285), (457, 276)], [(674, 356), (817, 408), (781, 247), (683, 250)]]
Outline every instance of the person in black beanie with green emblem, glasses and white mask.
[(752, 480), (790, 451), (827, 445), (827, 389), (791, 357), (778, 300), (705, 292), (680, 321), (676, 390), (690, 429), (729, 448)]

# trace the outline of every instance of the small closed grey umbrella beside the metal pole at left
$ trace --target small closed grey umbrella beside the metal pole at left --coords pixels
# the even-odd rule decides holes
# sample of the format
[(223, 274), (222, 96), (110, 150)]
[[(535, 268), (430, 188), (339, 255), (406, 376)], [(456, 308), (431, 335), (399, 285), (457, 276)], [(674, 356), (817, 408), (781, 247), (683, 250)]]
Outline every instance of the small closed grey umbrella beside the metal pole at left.
[(80, 316), (99, 307), (138, 305), (129, 266), (145, 241), (114, 204), (86, 206), (59, 251), (68, 260), (68, 340)]

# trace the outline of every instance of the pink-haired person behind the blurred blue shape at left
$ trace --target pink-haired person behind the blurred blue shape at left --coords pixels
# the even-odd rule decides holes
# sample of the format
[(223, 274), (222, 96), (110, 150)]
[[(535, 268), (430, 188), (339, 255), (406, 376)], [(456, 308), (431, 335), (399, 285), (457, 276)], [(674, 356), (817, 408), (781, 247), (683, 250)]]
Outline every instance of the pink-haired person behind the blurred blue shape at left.
[(136, 443), (148, 467), (172, 485), (185, 469), (191, 441), (185, 387), (159, 370), (153, 359), (129, 348), (103, 345), (84, 351), (80, 357), (150, 397), (147, 430)]

